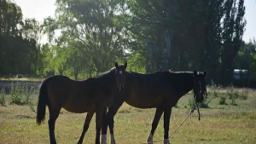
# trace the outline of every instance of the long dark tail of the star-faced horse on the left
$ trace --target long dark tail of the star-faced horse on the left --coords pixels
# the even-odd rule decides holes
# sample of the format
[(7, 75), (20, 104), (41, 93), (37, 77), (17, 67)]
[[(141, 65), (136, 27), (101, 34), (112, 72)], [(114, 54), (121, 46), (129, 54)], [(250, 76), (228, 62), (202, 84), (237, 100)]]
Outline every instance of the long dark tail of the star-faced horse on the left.
[(45, 118), (45, 109), (48, 102), (48, 90), (47, 82), (49, 79), (45, 79), (41, 85), (39, 98), (38, 98), (38, 112), (37, 112), (37, 124), (40, 125)]

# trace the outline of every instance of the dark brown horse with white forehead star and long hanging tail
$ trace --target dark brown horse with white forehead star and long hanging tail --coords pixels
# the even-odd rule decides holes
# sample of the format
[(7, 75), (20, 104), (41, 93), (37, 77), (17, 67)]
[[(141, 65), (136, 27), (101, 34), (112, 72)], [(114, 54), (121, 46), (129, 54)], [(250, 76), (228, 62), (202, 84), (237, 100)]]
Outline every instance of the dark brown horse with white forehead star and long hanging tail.
[(115, 63), (115, 68), (104, 72), (96, 78), (76, 81), (65, 76), (46, 78), (41, 85), (38, 98), (38, 125), (44, 121), (46, 106), (49, 108), (49, 140), (55, 144), (55, 121), (61, 107), (68, 112), (87, 112), (84, 129), (79, 139), (83, 143), (85, 132), (89, 128), (90, 120), (96, 112), (96, 144), (100, 143), (103, 112), (114, 96), (125, 86), (125, 65)]

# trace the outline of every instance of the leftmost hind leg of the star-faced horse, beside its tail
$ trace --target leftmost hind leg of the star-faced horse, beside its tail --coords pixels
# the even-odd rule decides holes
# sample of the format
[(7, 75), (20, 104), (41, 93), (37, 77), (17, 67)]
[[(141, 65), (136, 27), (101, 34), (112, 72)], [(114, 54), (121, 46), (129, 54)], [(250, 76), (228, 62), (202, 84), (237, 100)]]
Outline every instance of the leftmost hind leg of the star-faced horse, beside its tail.
[(56, 144), (55, 140), (55, 121), (59, 117), (60, 110), (53, 110), (49, 108), (49, 120), (48, 120), (48, 126), (49, 126), (49, 141), (50, 144)]

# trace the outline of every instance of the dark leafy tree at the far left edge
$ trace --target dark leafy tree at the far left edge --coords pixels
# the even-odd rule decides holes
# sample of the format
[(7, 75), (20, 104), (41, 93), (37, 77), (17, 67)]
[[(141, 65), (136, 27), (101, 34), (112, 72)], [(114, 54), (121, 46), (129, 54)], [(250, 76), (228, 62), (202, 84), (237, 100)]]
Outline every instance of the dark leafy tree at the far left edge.
[(23, 27), (21, 9), (12, 2), (1, 0), (0, 3), (0, 74), (35, 74), (37, 42), (34, 38), (23, 37), (26, 27)]

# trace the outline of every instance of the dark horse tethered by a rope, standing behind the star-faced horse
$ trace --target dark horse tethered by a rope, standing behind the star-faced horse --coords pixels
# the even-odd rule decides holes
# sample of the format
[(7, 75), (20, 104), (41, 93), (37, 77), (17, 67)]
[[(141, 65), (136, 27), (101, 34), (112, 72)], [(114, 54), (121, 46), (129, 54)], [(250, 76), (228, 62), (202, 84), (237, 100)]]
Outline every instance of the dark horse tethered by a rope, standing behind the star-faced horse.
[(127, 72), (125, 89), (122, 91), (122, 97), (116, 97), (105, 115), (105, 121), (102, 127), (101, 143), (107, 144), (107, 130), (111, 134), (111, 144), (115, 143), (113, 136), (113, 117), (119, 107), (125, 101), (131, 107), (137, 108), (156, 108), (151, 131), (147, 142), (153, 143), (153, 135), (164, 113), (164, 144), (170, 144), (169, 124), (172, 113), (172, 107), (177, 105), (177, 101), (190, 90), (194, 91), (196, 103), (204, 100), (207, 95), (205, 72), (171, 72), (159, 71), (153, 74), (140, 74), (137, 72)]

